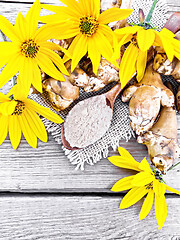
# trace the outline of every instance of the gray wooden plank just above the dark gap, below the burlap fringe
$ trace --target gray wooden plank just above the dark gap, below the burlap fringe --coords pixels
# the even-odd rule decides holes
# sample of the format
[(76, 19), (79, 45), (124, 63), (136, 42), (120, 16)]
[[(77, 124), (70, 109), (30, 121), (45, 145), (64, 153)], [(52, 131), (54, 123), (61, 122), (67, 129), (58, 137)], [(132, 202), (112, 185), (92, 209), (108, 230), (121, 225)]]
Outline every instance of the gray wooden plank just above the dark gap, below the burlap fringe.
[[(147, 156), (146, 147), (135, 140), (121, 142), (141, 161)], [(117, 152), (111, 151), (109, 155)], [(50, 136), (48, 143), (39, 141), (31, 148), (24, 139), (18, 150), (13, 150), (9, 139), (0, 146), (0, 191), (18, 192), (110, 192), (112, 185), (122, 177), (136, 172), (120, 169), (107, 159), (85, 170), (76, 171), (65, 157), (61, 146)], [(179, 167), (170, 171), (167, 184), (180, 190)]]

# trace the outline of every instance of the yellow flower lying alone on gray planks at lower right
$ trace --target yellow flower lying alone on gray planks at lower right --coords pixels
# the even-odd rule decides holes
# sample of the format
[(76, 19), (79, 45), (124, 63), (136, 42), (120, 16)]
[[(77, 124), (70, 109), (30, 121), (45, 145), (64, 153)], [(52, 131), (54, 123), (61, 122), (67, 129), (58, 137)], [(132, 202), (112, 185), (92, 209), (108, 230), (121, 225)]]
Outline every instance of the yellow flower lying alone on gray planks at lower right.
[(155, 199), (155, 213), (159, 229), (162, 229), (167, 217), (167, 205), (165, 191), (173, 193), (180, 192), (163, 183), (163, 179), (158, 172), (152, 171), (146, 158), (141, 163), (134, 160), (131, 154), (122, 147), (118, 148), (120, 156), (109, 157), (109, 161), (122, 168), (138, 171), (134, 176), (120, 179), (112, 187), (113, 192), (120, 192), (130, 189), (120, 204), (120, 209), (128, 208), (138, 202), (146, 195), (146, 199), (141, 208), (139, 219), (144, 219), (150, 212), (153, 200)]

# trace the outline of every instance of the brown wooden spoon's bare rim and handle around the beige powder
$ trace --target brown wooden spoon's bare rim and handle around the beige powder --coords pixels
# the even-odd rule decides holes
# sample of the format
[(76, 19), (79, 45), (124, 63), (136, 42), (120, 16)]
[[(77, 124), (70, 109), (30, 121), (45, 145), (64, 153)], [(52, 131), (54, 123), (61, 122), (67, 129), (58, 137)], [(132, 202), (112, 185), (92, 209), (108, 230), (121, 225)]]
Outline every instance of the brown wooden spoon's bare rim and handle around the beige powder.
[[(117, 83), (111, 90), (109, 90), (107, 93), (104, 93), (104, 95), (106, 97), (106, 104), (112, 110), (114, 108), (114, 102), (115, 102), (117, 96), (119, 95), (119, 93), (121, 91), (122, 91), (121, 84)], [(89, 98), (89, 100), (90, 100), (90, 98)], [(94, 114), (96, 114), (96, 113), (94, 113)], [(62, 143), (63, 143), (65, 148), (67, 148), (69, 150), (78, 150), (78, 149), (80, 149), (80, 148), (77, 148), (77, 147), (71, 147), (69, 142), (65, 139), (65, 136), (64, 136), (64, 124), (62, 126), (62, 131), (61, 131), (61, 139), (62, 139)]]

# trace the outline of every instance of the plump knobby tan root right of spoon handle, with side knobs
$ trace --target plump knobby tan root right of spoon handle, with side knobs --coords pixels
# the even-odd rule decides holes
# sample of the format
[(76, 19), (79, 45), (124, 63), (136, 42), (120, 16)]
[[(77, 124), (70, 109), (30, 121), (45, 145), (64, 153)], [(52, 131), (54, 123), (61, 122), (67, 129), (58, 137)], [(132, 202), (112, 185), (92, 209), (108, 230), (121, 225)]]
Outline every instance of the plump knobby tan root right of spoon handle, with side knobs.
[(122, 101), (129, 100), (130, 125), (137, 135), (153, 126), (161, 105), (174, 106), (174, 95), (162, 83), (160, 74), (153, 70), (153, 62), (148, 64), (141, 82), (124, 90)]

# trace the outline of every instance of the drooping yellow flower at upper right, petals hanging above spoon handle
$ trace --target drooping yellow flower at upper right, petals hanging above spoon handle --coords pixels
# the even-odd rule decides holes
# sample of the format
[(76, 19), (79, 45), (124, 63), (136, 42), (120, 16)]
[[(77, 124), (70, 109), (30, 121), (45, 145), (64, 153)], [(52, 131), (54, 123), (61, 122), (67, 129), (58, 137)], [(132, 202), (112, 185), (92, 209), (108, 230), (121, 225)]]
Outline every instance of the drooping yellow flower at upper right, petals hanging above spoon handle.
[(180, 59), (180, 42), (174, 39), (175, 35), (165, 28), (157, 32), (154, 29), (133, 26), (117, 29), (115, 34), (119, 43), (115, 48), (113, 59), (118, 59), (121, 46), (130, 42), (120, 63), (119, 77), (122, 87), (136, 72), (137, 81), (141, 81), (146, 68), (147, 51), (151, 46), (163, 47), (170, 61), (174, 56)]

